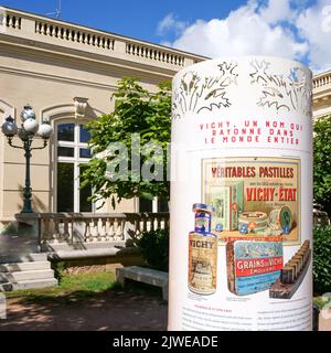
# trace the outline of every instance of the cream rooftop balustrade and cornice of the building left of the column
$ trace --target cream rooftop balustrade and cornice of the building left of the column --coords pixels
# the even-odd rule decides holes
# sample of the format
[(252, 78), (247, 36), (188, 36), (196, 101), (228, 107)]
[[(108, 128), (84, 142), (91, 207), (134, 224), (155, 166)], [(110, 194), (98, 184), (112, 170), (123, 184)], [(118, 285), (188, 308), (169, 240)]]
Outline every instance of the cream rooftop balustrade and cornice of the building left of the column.
[[(157, 72), (173, 76), (184, 66), (206, 57), (174, 49), (117, 35), (70, 22), (0, 7), (3, 42), (26, 45), (38, 50), (96, 58), (139, 71)], [(0, 17), (1, 19), (1, 17)]]

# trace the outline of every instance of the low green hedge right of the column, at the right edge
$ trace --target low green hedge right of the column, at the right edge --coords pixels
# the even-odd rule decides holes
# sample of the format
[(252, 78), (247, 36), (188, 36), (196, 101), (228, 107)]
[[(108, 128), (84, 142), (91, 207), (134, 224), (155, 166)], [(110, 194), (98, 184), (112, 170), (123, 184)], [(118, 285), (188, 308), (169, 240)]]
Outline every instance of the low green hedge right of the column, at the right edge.
[(313, 229), (313, 287), (320, 295), (331, 291), (331, 226)]

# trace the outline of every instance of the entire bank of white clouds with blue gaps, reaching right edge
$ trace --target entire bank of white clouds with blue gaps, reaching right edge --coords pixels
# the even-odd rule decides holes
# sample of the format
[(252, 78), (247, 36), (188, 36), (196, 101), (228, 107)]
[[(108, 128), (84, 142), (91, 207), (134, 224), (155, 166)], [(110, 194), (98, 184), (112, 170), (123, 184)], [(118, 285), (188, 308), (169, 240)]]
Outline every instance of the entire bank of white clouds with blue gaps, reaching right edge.
[(179, 21), (173, 15), (166, 17), (163, 29), (175, 28), (178, 35), (172, 43), (166, 39), (163, 42), (210, 57), (249, 54), (301, 61), (308, 57), (314, 71), (330, 69), (331, 10), (330, 14), (328, 9), (324, 14), (322, 11), (328, 3), (331, 6), (331, 0), (318, 0), (309, 9), (305, 3), (302, 0), (249, 0), (227, 18), (196, 20), (182, 29), (177, 26)]

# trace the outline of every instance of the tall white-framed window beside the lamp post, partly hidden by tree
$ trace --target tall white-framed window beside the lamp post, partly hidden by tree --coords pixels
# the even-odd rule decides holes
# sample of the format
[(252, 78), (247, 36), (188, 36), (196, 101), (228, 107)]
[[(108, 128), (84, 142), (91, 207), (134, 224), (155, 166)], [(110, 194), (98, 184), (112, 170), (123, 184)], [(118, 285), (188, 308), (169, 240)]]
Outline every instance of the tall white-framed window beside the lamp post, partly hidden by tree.
[(79, 174), (90, 159), (90, 136), (82, 124), (56, 125), (56, 211), (92, 212), (92, 188), (79, 190)]

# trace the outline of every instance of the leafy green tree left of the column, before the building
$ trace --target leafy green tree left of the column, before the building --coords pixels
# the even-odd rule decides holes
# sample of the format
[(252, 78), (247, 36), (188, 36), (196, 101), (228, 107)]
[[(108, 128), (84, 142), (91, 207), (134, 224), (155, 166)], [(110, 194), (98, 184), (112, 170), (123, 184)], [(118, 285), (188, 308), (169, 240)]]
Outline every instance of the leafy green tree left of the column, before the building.
[[(113, 98), (114, 110), (87, 125), (94, 158), (82, 173), (82, 188), (92, 185), (92, 200), (102, 201), (102, 204), (111, 197), (114, 208), (116, 201), (135, 196), (169, 199), (167, 156), (171, 129), (170, 83), (163, 83), (157, 93), (150, 93), (142, 88), (138, 79), (124, 77), (118, 82)], [(118, 145), (126, 149), (126, 153), (114, 151)], [(153, 145), (159, 148), (158, 156)], [(110, 153), (109, 146), (113, 146)], [(113, 174), (126, 165), (126, 175), (121, 180), (114, 179), (114, 175), (109, 178), (109, 173), (106, 173), (115, 164)], [(141, 178), (143, 169), (154, 178)]]

